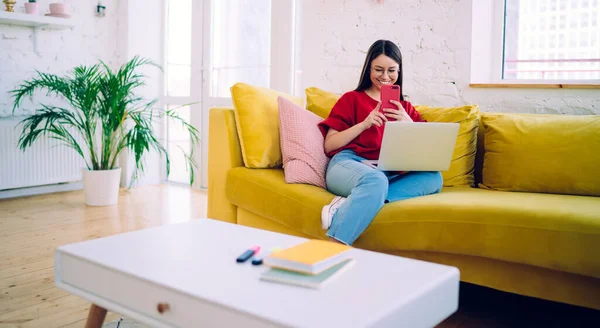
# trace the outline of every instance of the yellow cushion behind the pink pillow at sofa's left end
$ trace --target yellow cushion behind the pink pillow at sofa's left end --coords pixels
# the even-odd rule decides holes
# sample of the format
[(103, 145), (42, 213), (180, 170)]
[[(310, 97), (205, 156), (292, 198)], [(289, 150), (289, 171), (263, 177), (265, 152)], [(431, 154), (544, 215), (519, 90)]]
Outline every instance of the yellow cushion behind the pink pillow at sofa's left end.
[(279, 96), (302, 106), (302, 98), (275, 90), (241, 82), (231, 87), (236, 128), (246, 167), (275, 168), (282, 165), (277, 105)]

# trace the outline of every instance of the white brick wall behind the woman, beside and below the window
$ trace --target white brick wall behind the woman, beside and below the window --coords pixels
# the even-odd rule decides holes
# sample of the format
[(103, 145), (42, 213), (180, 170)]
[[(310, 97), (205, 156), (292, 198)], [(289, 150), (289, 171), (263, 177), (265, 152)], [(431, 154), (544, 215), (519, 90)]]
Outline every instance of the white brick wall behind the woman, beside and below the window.
[(414, 104), (467, 102), (494, 112), (600, 114), (598, 90), (470, 88), (472, 1), (304, 1), (304, 87), (354, 89), (369, 46), (390, 39), (401, 47), (404, 93)]

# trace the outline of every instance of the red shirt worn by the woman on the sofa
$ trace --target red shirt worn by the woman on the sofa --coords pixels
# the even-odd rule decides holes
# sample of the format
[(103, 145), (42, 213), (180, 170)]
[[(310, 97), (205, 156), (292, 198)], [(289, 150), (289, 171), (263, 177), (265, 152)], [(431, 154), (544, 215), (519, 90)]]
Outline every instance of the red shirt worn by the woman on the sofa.
[[(414, 122), (426, 122), (421, 118), (419, 112), (415, 110), (413, 105), (408, 101), (400, 101), (406, 113)], [(329, 128), (337, 131), (344, 131), (367, 118), (371, 111), (377, 106), (377, 100), (371, 98), (364, 91), (349, 91), (333, 106), (329, 117), (319, 123), (319, 129), (323, 137), (327, 135)], [(345, 149), (353, 150), (358, 156), (366, 159), (379, 159), (379, 151), (381, 141), (383, 139), (383, 131), (385, 124), (382, 126), (373, 125), (363, 131), (354, 140), (346, 146), (326, 153), (327, 156), (333, 157)]]

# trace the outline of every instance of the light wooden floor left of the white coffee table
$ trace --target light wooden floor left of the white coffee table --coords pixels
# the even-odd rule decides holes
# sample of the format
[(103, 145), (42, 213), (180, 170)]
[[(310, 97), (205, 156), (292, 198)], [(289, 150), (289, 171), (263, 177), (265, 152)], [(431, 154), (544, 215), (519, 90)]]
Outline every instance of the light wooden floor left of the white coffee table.
[(122, 189), (110, 207), (81, 191), (0, 200), (0, 327), (84, 326), (90, 304), (54, 287), (57, 246), (205, 216), (206, 193), (177, 185)]

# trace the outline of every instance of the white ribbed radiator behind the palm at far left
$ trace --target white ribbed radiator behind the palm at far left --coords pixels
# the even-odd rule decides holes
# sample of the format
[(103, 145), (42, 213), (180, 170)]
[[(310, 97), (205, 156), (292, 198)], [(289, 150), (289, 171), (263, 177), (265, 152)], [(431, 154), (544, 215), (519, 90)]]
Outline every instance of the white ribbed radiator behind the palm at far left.
[(0, 120), (0, 190), (81, 180), (83, 159), (59, 141), (41, 137), (25, 152), (19, 149), (18, 122)]

